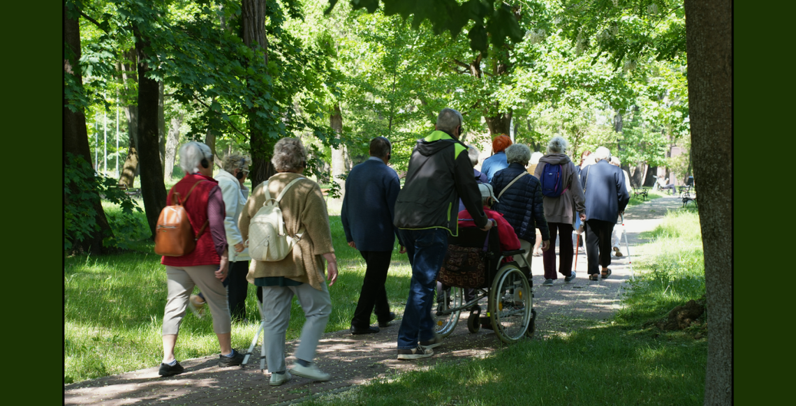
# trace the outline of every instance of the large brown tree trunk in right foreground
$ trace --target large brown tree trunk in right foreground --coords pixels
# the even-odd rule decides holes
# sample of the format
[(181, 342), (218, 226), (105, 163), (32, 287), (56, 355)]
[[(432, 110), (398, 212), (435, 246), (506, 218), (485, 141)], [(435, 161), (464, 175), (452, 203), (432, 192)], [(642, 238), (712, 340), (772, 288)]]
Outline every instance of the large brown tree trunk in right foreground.
[(704, 404), (732, 404), (732, 2), (685, 0), (689, 116), (708, 300)]

